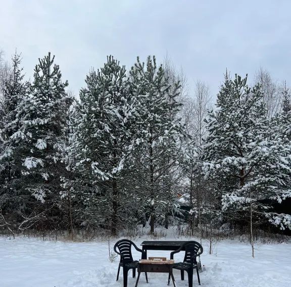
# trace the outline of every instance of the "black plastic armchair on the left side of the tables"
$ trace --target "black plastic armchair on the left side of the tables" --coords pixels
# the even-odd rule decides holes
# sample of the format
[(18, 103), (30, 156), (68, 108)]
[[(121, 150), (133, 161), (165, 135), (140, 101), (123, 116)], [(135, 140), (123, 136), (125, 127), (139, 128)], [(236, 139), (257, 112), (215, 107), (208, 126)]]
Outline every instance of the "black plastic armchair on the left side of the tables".
[[(123, 268), (123, 287), (127, 287), (127, 275), (128, 275), (128, 271), (130, 269), (132, 269), (132, 277), (135, 278), (135, 271), (136, 271), (137, 264), (138, 264), (138, 261), (133, 260), (133, 258), (132, 258), (131, 246), (133, 246), (137, 251), (141, 252), (141, 254), (144, 253), (132, 241), (127, 240), (127, 239), (122, 239), (114, 245), (114, 251), (118, 255), (120, 255), (120, 262), (119, 262), (119, 266), (118, 266), (116, 281), (118, 281), (120, 267), (122, 267)], [(117, 249), (118, 249), (118, 251), (117, 251)], [(149, 281), (148, 281), (148, 274), (147, 273), (146, 273), (146, 280), (148, 283)]]

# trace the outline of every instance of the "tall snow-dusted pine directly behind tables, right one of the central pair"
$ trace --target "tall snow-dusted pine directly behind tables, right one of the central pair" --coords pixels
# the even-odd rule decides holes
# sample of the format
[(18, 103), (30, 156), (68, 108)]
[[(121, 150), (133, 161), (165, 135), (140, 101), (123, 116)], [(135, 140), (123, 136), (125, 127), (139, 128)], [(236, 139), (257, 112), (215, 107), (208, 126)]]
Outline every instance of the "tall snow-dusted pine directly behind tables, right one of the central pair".
[(146, 65), (137, 58), (130, 80), (132, 93), (139, 102), (136, 139), (139, 149), (135, 153), (133, 188), (141, 195), (151, 217), (153, 233), (157, 217), (172, 213), (177, 198), (175, 184), (180, 177), (178, 160), (184, 137), (177, 119), (180, 86), (170, 83), (163, 67), (157, 67), (155, 57), (149, 57)]

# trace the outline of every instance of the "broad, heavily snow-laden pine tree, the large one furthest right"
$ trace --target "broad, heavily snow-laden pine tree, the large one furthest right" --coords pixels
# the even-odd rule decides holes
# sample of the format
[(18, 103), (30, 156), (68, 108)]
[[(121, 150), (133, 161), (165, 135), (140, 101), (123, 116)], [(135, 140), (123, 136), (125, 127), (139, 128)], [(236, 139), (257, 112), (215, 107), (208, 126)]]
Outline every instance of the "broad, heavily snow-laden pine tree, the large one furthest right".
[[(265, 117), (259, 85), (250, 88), (247, 77), (228, 76), (209, 114), (204, 147), (204, 173), (217, 182), (224, 216), (259, 224), (268, 220), (291, 228), (291, 216), (270, 210), (270, 200), (291, 196), (290, 146)], [(251, 236), (252, 237), (252, 236)]]

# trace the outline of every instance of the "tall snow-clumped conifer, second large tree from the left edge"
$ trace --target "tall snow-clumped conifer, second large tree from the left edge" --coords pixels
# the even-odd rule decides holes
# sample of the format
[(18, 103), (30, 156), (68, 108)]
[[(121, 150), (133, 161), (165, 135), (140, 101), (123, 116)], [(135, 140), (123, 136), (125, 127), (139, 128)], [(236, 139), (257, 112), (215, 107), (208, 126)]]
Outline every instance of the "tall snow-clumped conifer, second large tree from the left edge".
[(30, 209), (43, 211), (59, 199), (61, 149), (67, 129), (67, 114), (72, 103), (62, 81), (60, 67), (51, 53), (34, 69), (34, 81), (28, 96), (18, 105), (16, 119), (9, 126), (18, 127), (11, 135), (11, 148), (22, 169), (22, 189), (39, 203)]

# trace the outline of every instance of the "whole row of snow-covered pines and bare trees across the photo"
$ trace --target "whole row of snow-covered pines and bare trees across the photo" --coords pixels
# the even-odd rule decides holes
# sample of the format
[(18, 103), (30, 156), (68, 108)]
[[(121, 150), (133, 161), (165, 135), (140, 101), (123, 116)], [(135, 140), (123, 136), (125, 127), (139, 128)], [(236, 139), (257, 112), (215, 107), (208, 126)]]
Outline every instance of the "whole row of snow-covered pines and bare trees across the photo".
[(53, 54), (28, 81), (21, 54), (0, 55), (3, 234), (290, 234), (284, 79), (226, 71), (212, 97), (168, 58), (109, 56), (74, 96)]

